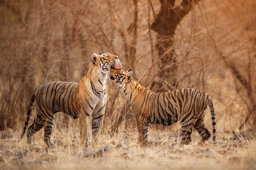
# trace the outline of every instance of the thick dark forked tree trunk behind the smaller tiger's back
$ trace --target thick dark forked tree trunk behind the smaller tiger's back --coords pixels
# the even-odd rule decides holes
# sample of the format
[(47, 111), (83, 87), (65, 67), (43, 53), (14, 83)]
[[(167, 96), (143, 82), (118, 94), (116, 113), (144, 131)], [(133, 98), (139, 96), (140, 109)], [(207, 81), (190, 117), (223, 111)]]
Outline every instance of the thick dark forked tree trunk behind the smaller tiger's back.
[[(191, 11), (194, 4), (200, 0), (183, 0), (182, 3), (174, 7), (175, 0), (160, 0), (161, 9), (155, 18), (155, 22), (151, 24), (150, 28), (157, 32), (157, 49), (158, 49), (158, 77), (160, 81), (165, 80), (169, 86), (173, 87), (172, 90), (177, 88), (177, 60), (175, 49), (173, 48), (173, 37), (176, 28), (180, 21), (186, 14)], [(152, 82), (151, 89), (157, 84), (156, 81)], [(156, 89), (156, 91), (166, 91), (166, 89)]]

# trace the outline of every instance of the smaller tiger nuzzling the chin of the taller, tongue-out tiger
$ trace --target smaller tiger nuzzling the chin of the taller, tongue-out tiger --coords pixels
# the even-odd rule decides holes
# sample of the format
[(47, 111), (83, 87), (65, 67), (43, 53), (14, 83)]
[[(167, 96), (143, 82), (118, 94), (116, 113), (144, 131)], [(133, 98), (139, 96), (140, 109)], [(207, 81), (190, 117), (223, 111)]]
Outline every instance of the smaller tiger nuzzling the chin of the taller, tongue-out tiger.
[(191, 142), (194, 127), (202, 137), (208, 140), (211, 132), (204, 125), (204, 115), (209, 106), (213, 126), (213, 141), (216, 136), (216, 119), (213, 102), (209, 95), (193, 88), (177, 91), (154, 93), (132, 79), (132, 71), (114, 70), (109, 72), (110, 79), (115, 80), (126, 95), (137, 121), (139, 142), (147, 144), (150, 123), (169, 126), (181, 122), (181, 144)]

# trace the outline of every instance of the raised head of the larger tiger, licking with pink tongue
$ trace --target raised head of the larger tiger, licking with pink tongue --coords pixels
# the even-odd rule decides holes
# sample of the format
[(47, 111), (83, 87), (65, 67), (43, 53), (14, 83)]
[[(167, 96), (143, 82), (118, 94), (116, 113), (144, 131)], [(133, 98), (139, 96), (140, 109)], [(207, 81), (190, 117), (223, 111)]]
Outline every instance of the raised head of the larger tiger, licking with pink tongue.
[(110, 53), (92, 53), (92, 63), (98, 66), (101, 73), (107, 73), (110, 69), (121, 70), (122, 64), (117, 55)]

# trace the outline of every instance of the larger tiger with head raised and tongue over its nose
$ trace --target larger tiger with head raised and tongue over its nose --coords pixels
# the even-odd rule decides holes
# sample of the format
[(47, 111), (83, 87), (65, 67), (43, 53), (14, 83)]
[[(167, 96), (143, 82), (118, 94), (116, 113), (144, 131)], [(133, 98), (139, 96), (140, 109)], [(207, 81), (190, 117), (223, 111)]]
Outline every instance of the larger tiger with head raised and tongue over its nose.
[(92, 116), (93, 144), (96, 144), (106, 108), (106, 79), (111, 68), (122, 69), (117, 55), (93, 53), (92, 66), (79, 83), (47, 82), (39, 85), (31, 97), (21, 138), (25, 134), (31, 110), (36, 101), (36, 118), (27, 131), (29, 143), (32, 135), (44, 127), (44, 141), (49, 148), (54, 148), (56, 146), (52, 141), (54, 115), (57, 112), (63, 112), (73, 119), (79, 118), (82, 148), (88, 147), (88, 117)]

